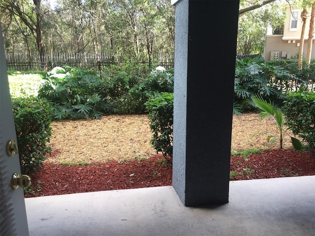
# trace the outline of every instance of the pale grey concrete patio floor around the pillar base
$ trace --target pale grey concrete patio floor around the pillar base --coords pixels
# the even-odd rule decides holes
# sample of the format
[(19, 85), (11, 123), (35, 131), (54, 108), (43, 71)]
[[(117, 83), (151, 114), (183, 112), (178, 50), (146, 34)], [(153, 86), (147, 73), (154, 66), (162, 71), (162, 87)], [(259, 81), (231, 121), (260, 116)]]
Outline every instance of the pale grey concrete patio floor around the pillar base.
[(315, 236), (315, 176), (231, 181), (221, 206), (185, 207), (171, 186), (25, 202), (30, 236)]

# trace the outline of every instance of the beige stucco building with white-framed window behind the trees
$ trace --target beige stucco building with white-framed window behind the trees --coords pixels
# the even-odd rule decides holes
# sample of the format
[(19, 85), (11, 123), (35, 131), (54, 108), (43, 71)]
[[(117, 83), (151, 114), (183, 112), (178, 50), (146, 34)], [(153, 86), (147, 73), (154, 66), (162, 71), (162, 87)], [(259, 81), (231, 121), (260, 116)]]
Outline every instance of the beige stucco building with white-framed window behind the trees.
[[(283, 29), (267, 29), (266, 45), (264, 50), (265, 60), (294, 59), (298, 57), (302, 31), (302, 9), (286, 5), (286, 20)], [(309, 40), (311, 9), (308, 9), (306, 21), (303, 55), (306, 57)], [(315, 36), (313, 37), (312, 59), (315, 59)]]

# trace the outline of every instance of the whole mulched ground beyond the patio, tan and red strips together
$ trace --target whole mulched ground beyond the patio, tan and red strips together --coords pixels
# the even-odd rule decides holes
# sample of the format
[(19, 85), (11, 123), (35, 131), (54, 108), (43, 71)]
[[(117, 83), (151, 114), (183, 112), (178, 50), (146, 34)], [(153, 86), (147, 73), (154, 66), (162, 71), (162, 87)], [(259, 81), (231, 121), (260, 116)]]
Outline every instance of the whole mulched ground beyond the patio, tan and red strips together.
[[(52, 155), (32, 174), (32, 191), (26, 197), (165, 186), (172, 184), (172, 169), (151, 147), (147, 115), (106, 116), (98, 120), (52, 123)], [(270, 131), (268, 134), (256, 133)], [(231, 156), (231, 180), (315, 175), (315, 158), (291, 149), (278, 134), (273, 119), (258, 114), (233, 116), (231, 150), (259, 148), (248, 158)]]

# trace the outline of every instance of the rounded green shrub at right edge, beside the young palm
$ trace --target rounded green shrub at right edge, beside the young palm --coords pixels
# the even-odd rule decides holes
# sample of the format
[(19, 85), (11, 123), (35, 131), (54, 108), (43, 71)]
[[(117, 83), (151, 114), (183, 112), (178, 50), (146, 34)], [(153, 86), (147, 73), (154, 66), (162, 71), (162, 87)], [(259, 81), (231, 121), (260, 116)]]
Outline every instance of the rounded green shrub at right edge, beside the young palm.
[(284, 102), (286, 124), (315, 152), (315, 92), (293, 92)]

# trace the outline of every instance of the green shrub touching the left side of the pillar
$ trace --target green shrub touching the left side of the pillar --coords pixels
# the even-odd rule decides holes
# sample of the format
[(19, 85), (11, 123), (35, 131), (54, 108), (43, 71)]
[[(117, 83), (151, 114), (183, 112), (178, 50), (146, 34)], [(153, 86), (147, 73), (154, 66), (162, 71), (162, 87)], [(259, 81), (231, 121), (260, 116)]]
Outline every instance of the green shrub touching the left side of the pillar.
[(153, 133), (151, 144), (165, 159), (167, 155), (173, 157), (173, 102), (173, 93), (161, 92), (146, 103)]

